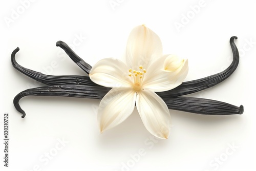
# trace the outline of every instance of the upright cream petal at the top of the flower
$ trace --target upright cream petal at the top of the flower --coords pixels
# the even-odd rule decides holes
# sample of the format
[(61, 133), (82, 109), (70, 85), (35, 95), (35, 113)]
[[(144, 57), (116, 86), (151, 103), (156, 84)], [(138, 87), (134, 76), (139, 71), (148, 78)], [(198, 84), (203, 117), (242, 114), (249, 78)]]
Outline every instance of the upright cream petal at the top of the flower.
[(158, 35), (144, 25), (135, 27), (127, 41), (127, 65), (135, 70), (139, 66), (147, 68), (152, 60), (161, 56), (162, 42)]

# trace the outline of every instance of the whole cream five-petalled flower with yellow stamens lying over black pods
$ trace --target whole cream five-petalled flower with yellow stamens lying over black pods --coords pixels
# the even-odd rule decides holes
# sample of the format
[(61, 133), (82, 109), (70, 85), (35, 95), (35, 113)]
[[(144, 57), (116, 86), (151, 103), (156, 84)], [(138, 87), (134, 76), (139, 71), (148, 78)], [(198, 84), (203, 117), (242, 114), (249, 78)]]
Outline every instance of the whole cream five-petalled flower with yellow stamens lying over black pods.
[(148, 132), (167, 139), (170, 114), (155, 93), (174, 89), (185, 79), (187, 60), (162, 55), (160, 38), (144, 25), (134, 28), (126, 46), (126, 63), (105, 58), (90, 71), (90, 79), (111, 89), (98, 110), (100, 132), (111, 129), (129, 117), (135, 107)]

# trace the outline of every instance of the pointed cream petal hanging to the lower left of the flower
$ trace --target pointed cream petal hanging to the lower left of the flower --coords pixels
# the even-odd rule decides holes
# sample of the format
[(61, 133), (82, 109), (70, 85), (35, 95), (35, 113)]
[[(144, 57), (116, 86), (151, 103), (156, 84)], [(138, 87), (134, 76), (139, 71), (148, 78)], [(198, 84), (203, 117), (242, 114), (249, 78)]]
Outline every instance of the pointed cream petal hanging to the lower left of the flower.
[(129, 117), (135, 106), (133, 89), (113, 88), (100, 101), (98, 124), (100, 132), (111, 129)]

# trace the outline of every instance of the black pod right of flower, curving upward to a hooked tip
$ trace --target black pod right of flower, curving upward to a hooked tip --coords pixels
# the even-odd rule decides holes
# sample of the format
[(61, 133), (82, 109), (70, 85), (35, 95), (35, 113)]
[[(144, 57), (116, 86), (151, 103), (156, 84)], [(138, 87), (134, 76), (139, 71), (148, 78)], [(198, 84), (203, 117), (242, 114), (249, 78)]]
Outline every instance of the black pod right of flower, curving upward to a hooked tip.
[(233, 53), (233, 61), (226, 70), (201, 79), (183, 82), (180, 86), (178, 86), (175, 89), (166, 92), (158, 92), (157, 94), (161, 97), (175, 97), (187, 95), (190, 93), (196, 93), (201, 90), (208, 89), (227, 79), (234, 72), (234, 70), (237, 69), (239, 63), (239, 52), (236, 44), (234, 44), (234, 39), (237, 39), (237, 37), (233, 36), (230, 38), (230, 46)]

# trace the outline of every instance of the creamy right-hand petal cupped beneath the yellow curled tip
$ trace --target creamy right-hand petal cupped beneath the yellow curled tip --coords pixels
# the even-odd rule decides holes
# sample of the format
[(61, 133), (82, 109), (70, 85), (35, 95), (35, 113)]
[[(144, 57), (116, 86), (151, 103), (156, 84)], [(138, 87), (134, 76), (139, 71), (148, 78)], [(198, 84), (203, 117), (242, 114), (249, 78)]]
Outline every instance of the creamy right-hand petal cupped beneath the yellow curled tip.
[(148, 68), (147, 72), (144, 74), (142, 89), (163, 92), (178, 87), (184, 81), (188, 73), (187, 59), (184, 59), (179, 69), (168, 71), (164, 70), (166, 57), (168, 57), (168, 55), (162, 56)]

